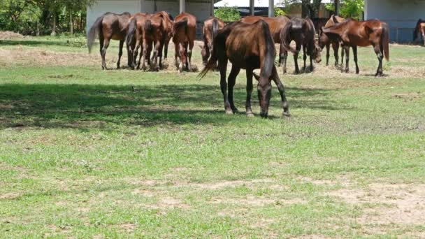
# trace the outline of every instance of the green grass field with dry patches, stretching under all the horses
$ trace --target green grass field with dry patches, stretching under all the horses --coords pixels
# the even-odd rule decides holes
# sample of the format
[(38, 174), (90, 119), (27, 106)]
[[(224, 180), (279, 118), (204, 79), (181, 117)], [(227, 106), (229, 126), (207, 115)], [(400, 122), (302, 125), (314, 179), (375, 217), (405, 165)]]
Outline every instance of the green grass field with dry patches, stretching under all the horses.
[(217, 72), (75, 45), (0, 41), (0, 238), (425, 237), (425, 48), (391, 45), (384, 78), (372, 48), (360, 75), (281, 74), (292, 116), (273, 85), (261, 119), (243, 72), (225, 115)]

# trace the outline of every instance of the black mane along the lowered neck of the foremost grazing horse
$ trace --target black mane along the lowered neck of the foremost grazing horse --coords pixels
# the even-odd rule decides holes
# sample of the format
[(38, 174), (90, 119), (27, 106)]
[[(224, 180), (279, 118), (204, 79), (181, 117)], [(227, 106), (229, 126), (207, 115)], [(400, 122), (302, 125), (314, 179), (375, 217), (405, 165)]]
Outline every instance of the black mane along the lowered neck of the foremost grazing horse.
[(260, 55), (264, 54), (264, 64), (261, 66), (261, 76), (270, 77), (273, 71), (273, 67), (275, 66), (275, 57), (276, 57), (276, 48), (275, 48), (275, 42), (273, 41), (273, 37), (271, 36), (270, 27), (268, 27), (267, 22), (264, 20), (259, 20), (259, 23), (261, 24), (262, 28), (262, 34), (261, 36), (264, 41), (264, 52)]

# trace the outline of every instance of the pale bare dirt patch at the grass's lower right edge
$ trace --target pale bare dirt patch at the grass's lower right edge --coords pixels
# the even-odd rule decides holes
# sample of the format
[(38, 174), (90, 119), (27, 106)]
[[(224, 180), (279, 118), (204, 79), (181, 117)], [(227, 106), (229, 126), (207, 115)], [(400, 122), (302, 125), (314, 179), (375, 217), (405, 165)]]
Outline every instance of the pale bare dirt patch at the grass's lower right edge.
[(359, 224), (421, 225), (425, 222), (425, 184), (370, 184), (368, 189), (339, 189), (329, 193), (347, 203), (374, 203), (363, 210)]

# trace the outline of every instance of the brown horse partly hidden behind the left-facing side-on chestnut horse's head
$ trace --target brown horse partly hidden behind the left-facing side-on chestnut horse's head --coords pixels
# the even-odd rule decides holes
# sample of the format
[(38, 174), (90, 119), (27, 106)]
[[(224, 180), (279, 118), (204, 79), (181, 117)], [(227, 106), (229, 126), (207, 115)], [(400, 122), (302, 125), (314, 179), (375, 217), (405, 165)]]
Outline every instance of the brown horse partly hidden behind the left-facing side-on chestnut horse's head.
[[(320, 48), (324, 48), (326, 47), (326, 66), (329, 66), (329, 48), (332, 45), (332, 49), (333, 49), (333, 57), (335, 57), (335, 66), (338, 66), (339, 63), (339, 56), (338, 56), (338, 51), (340, 48), (340, 43), (338, 41), (331, 41), (331, 39), (326, 36), (326, 34), (322, 34), (322, 28), (323, 27), (332, 27), (333, 25), (339, 23), (339, 22), (344, 22), (345, 18), (343, 17), (338, 17), (336, 15), (332, 15), (331, 18), (329, 18), (329, 20), (326, 21), (326, 24), (324, 24), (324, 26), (320, 26), (319, 28), (316, 28), (317, 31), (319, 31), (319, 46)], [(341, 48), (341, 65), (343, 64), (343, 58), (344, 58), (344, 49)]]

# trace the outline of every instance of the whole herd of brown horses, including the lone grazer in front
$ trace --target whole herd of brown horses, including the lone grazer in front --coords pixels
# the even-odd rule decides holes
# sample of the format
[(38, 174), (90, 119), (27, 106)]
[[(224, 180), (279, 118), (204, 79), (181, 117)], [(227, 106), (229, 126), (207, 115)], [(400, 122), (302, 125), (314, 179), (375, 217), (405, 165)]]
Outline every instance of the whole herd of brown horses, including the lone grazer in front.
[[(120, 53), (117, 67), (120, 68), (122, 48), (127, 43), (128, 66), (145, 69), (149, 65), (154, 71), (162, 66), (167, 57), (168, 43), (173, 39), (175, 46), (175, 64), (179, 71), (192, 70), (192, 50), (196, 36), (196, 17), (189, 13), (180, 13), (173, 17), (166, 12), (154, 14), (106, 13), (94, 22), (87, 34), (87, 45), (92, 49), (96, 34), (100, 40), (102, 68), (106, 69), (105, 55), (110, 40), (120, 41)], [(316, 37), (318, 34), (318, 38)], [(295, 48), (290, 43), (295, 42)], [(339, 64), (338, 50), (345, 55), (345, 72), (349, 71), (350, 48), (353, 50), (356, 73), (357, 47), (372, 45), (379, 61), (376, 76), (382, 76), (382, 59), (389, 59), (389, 27), (380, 20), (357, 21), (332, 16), (326, 22), (299, 17), (243, 17), (240, 21), (225, 24), (216, 17), (204, 22), (203, 47), (201, 51), (204, 68), (199, 77), (208, 71), (218, 70), (220, 86), (224, 96), (226, 113), (237, 111), (233, 103), (233, 87), (240, 69), (246, 70), (247, 100), (246, 114), (252, 116), (251, 95), (252, 78), (258, 81), (257, 91), (261, 108), (261, 117), (268, 116), (271, 99), (271, 80), (278, 86), (282, 99), (283, 115), (289, 116), (289, 105), (275, 66), (275, 43), (280, 44), (279, 65), (283, 64), (283, 73), (287, 72), (288, 52), (294, 55), (295, 71), (299, 73), (298, 53), (303, 49), (304, 68), (307, 56), (320, 62), (320, 52), (326, 48), (326, 65), (329, 64), (329, 48), (335, 52), (336, 65)], [(140, 55), (139, 55), (140, 50)], [(153, 50), (152, 58), (150, 57)], [(342, 56), (343, 58), (343, 56)], [(231, 72), (226, 82), (226, 68), (231, 62)], [(259, 75), (254, 69), (260, 69)]]

